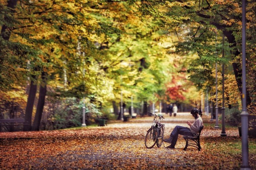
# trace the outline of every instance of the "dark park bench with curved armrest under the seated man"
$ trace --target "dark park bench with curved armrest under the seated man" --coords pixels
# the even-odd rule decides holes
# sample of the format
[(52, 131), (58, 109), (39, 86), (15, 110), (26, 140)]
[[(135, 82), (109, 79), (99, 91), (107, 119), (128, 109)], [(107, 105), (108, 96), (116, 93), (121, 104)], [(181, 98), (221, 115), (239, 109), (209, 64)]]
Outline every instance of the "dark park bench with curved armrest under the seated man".
[[(200, 134), (201, 134), (201, 131), (202, 131), (203, 128), (204, 128), (204, 126), (201, 125), (198, 133), (193, 133), (193, 132), (190, 132), (190, 131), (186, 131), (188, 133), (188, 135), (183, 135), (183, 138), (186, 141), (186, 146), (183, 150), (186, 150), (189, 146), (196, 147), (199, 151), (201, 150)], [(186, 132), (184, 132), (184, 133), (186, 134)], [(191, 133), (193, 135), (191, 135)]]

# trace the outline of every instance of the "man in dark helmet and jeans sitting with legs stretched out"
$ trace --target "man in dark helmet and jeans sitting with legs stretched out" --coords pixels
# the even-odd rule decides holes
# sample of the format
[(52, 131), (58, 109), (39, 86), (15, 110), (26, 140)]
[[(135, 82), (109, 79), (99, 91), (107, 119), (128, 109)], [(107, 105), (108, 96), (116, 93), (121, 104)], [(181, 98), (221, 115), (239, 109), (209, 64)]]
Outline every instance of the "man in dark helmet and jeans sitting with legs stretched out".
[[(192, 109), (192, 111), (190, 113), (195, 118), (194, 123), (192, 124), (191, 122), (187, 121), (187, 124), (190, 126), (189, 128), (184, 127), (184, 126), (174, 127), (174, 129), (172, 130), (172, 133), (170, 134), (169, 139), (163, 140), (164, 142), (171, 143), (171, 145), (166, 148), (174, 148), (175, 147), (176, 142), (178, 140), (178, 135), (188, 135), (188, 131), (191, 131), (193, 133), (199, 132), (200, 127), (203, 124), (203, 120), (200, 117), (200, 115), (198, 114), (199, 110), (197, 108), (194, 108), (194, 109)], [(186, 134), (184, 132), (186, 132)], [(191, 133), (191, 135), (193, 135), (193, 133)]]

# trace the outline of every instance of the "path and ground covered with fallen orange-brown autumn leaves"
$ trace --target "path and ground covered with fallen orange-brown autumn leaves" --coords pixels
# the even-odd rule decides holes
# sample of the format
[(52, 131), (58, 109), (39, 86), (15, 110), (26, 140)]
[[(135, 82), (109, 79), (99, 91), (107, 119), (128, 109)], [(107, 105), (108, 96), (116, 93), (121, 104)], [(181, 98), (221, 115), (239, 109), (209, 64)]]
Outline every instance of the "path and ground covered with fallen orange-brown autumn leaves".
[[(203, 116), (206, 124), (208, 119)], [(165, 137), (175, 125), (186, 126), (186, 120), (193, 121), (192, 116), (166, 116)], [(220, 137), (221, 129), (209, 123), (201, 134), (201, 151), (182, 150), (182, 137), (176, 149), (146, 149), (144, 137), (151, 123), (152, 117), (137, 117), (106, 127), (0, 133), (0, 169), (240, 169), (241, 138), (236, 128), (226, 128), (228, 136)], [(250, 166), (256, 169), (255, 139), (249, 140), (250, 146)]]

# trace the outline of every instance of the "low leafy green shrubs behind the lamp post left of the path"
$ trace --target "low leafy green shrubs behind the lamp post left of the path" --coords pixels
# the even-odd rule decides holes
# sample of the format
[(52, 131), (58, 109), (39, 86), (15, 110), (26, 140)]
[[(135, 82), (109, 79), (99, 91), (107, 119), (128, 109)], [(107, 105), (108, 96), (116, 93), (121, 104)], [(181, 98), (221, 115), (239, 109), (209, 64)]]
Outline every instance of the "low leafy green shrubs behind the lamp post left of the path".
[[(82, 125), (83, 100), (76, 98), (49, 99), (45, 106), (41, 129), (64, 129), (78, 127)], [(95, 123), (98, 115), (102, 115), (100, 110), (92, 103), (85, 102), (86, 125)]]

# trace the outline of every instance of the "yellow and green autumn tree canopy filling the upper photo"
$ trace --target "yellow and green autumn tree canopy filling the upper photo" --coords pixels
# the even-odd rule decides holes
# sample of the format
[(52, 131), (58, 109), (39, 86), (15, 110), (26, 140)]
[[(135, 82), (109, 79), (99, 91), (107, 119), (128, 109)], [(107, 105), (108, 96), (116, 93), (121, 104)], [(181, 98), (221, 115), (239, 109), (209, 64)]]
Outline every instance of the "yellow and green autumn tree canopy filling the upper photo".
[[(228, 86), (236, 81), (241, 91), (238, 0), (0, 2), (0, 102), (14, 98), (6, 91), (24, 92), (18, 102), (34, 130), (47, 96), (86, 98), (97, 107), (119, 103), (121, 90), (124, 102), (156, 102), (165, 95), (190, 100), (186, 93), (193, 83), (214, 90), (215, 63), (225, 64)], [(255, 5), (248, 1), (248, 106), (256, 91)], [(236, 90), (225, 91), (227, 98), (237, 96)]]

